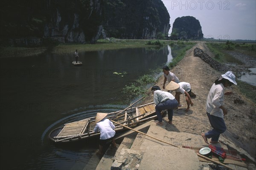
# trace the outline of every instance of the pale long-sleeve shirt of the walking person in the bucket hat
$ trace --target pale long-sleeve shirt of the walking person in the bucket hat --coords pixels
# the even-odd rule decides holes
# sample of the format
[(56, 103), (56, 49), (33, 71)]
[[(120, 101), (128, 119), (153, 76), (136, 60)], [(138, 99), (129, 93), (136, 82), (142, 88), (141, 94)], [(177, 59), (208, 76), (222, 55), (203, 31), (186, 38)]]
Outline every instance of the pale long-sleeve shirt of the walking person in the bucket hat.
[(206, 101), (206, 111), (210, 115), (224, 117), (223, 110), (219, 108), (224, 102), (224, 90), (225, 87), (222, 83), (212, 85)]

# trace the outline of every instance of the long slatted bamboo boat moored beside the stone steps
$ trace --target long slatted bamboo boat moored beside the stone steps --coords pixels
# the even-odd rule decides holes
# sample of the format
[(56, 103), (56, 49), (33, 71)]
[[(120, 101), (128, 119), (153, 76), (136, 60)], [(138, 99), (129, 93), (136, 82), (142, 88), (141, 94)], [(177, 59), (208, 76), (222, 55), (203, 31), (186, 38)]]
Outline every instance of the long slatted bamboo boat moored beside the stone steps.
[[(100, 135), (99, 132), (95, 133), (93, 131), (96, 126), (95, 118), (96, 117), (91, 117), (64, 124), (64, 126), (52, 130), (49, 133), (49, 139), (55, 143), (67, 143)], [(125, 112), (117, 111), (108, 113), (106, 118), (113, 119), (113, 121), (133, 128), (157, 118), (157, 115), (155, 114), (155, 104), (152, 102), (138, 107), (130, 107), (129, 109), (126, 109)], [(114, 125), (116, 127), (116, 132), (125, 130), (121, 125), (116, 123), (114, 123)]]

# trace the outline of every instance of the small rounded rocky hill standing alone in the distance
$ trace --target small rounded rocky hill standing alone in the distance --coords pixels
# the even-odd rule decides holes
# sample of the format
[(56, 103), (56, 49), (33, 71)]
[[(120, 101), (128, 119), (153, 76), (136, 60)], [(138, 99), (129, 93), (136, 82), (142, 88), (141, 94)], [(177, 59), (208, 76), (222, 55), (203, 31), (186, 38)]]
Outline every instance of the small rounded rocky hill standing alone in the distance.
[(178, 17), (172, 27), (172, 40), (201, 40), (204, 37), (199, 20), (192, 16)]

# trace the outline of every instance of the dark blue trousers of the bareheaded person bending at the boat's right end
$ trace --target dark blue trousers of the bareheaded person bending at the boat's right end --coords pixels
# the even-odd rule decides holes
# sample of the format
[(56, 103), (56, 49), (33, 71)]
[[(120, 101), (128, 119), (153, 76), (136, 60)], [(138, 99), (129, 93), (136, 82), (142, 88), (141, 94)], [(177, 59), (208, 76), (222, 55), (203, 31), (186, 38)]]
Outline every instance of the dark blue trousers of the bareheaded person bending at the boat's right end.
[(178, 102), (176, 99), (168, 99), (166, 101), (163, 101), (160, 104), (157, 104), (156, 106), (156, 114), (157, 114), (157, 119), (158, 121), (162, 122), (162, 115), (161, 112), (162, 110), (168, 110), (168, 119), (169, 121), (172, 121), (172, 116), (173, 116), (173, 109), (178, 107)]

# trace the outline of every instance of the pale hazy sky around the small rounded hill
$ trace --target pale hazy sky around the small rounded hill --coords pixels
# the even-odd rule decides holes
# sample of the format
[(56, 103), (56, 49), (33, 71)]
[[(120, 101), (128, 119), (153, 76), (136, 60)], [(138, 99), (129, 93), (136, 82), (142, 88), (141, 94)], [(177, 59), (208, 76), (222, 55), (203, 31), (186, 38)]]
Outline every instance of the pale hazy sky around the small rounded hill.
[(162, 0), (170, 14), (199, 20), (204, 37), (256, 40), (256, 0)]

